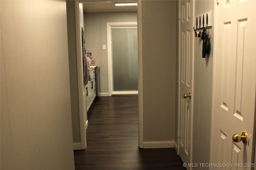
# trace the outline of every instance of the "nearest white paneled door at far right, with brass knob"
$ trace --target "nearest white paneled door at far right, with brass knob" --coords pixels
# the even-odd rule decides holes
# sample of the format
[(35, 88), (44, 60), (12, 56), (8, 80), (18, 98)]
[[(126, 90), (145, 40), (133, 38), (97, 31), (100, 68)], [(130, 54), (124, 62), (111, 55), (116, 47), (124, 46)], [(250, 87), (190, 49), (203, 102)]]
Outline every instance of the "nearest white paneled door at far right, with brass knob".
[[(256, 97), (256, 1), (220, 0), (216, 5), (216, 81), (213, 162), (247, 169), (253, 158)], [(234, 134), (248, 134), (235, 143)], [(254, 162), (253, 162), (254, 163)], [(248, 168), (250, 169), (250, 168)]]

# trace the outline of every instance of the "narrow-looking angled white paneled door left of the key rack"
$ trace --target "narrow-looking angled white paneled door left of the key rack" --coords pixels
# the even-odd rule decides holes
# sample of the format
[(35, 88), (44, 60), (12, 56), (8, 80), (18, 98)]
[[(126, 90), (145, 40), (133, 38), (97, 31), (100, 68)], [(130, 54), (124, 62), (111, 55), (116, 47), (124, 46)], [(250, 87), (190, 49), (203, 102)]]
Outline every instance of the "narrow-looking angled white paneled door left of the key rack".
[(192, 101), (193, 96), (184, 98), (184, 94), (192, 93), (193, 66), (193, 6), (194, 1), (181, 0), (180, 36), (179, 36), (179, 154), (184, 163), (191, 161), (192, 149)]

